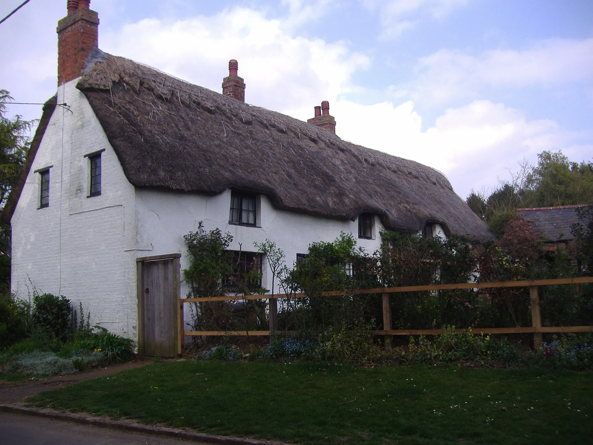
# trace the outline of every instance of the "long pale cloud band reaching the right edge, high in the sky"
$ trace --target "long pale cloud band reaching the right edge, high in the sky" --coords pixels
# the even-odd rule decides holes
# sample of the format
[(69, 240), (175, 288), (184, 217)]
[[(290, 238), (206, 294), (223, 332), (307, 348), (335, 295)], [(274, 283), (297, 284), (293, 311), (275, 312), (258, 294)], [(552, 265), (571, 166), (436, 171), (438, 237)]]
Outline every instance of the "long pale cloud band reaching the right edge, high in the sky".
[(593, 78), (593, 39), (549, 39), (525, 50), (489, 50), (472, 56), (442, 49), (419, 59), (417, 76), (406, 90), (429, 105), (473, 98), (485, 87), (548, 87)]

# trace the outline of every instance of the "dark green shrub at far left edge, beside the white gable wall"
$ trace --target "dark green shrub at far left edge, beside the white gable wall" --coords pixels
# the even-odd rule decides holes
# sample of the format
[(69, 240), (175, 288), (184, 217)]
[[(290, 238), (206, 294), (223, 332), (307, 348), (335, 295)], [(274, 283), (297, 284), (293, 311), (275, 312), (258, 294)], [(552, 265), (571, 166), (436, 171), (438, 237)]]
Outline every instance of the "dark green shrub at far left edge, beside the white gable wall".
[(0, 347), (12, 345), (28, 335), (29, 314), (27, 301), (19, 300), (12, 294), (0, 294)]

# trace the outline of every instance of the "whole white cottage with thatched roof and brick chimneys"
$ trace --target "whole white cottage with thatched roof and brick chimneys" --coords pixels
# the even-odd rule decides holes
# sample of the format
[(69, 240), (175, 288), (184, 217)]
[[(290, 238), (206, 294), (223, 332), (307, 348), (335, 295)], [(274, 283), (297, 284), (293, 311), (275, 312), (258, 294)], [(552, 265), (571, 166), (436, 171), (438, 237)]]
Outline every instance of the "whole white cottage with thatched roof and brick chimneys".
[(215, 93), (101, 52), (98, 23), (88, 0), (68, 1), (58, 92), (2, 214), (20, 297), (82, 301), (94, 323), (141, 347), (161, 338), (154, 354), (168, 355), (183, 236), (199, 221), (246, 260), (275, 241), (289, 265), (340, 231), (371, 252), (382, 229), (491, 237), (443, 174), (336, 136), (329, 104), (309, 122), (251, 106), (235, 61)]

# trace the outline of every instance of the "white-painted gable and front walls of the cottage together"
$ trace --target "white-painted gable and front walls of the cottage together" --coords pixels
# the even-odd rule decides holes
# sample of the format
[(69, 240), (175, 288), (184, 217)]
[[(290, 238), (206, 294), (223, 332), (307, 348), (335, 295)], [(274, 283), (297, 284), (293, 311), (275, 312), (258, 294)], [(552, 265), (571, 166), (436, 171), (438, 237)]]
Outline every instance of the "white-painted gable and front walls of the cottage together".
[[(12, 289), (28, 298), (39, 293), (62, 294), (78, 308), (91, 311), (91, 323), (136, 341), (136, 258), (181, 253), (187, 268), (183, 236), (219, 228), (234, 237), (233, 250), (256, 251), (254, 241), (275, 241), (291, 267), (297, 253), (307, 253), (315, 241), (333, 241), (340, 231), (358, 236), (358, 221), (330, 220), (272, 206), (260, 197), (259, 227), (228, 224), (231, 191), (218, 196), (134, 189), (123, 174), (87, 99), (75, 88), (76, 80), (59, 88), (57, 107), (28, 174), (12, 217)], [(101, 155), (101, 195), (87, 198), (90, 162), (84, 155)], [(39, 209), (40, 175), (50, 169), (48, 208)], [(374, 218), (375, 239), (358, 239), (369, 253), (380, 247), (382, 224)], [(267, 263), (265, 264), (267, 267)], [(264, 269), (263, 286), (272, 278)], [(189, 291), (183, 283), (181, 294)], [(276, 284), (275, 292), (279, 291)], [(186, 320), (190, 319), (186, 305)]]

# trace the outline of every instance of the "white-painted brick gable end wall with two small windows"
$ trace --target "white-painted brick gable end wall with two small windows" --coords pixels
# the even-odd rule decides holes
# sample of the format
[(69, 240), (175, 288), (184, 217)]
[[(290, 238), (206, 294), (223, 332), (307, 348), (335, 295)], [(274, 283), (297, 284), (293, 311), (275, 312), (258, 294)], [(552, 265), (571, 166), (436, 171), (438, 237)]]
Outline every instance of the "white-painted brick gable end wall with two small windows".
[[(134, 187), (127, 182), (76, 80), (58, 103), (12, 217), (12, 290), (20, 298), (64, 295), (91, 312), (91, 323), (136, 340)], [(101, 155), (101, 195), (90, 192), (90, 161)], [(50, 169), (49, 207), (38, 209), (40, 174)]]

